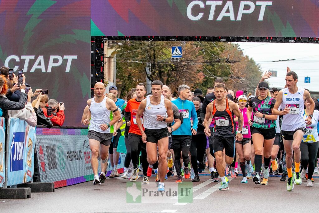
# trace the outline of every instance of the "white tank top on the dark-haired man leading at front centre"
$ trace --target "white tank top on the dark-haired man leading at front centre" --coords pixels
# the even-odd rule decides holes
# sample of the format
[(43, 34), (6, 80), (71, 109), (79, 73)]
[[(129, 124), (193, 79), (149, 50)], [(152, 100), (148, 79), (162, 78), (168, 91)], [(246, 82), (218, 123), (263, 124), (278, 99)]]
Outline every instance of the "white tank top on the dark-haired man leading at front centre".
[(166, 107), (164, 103), (164, 96), (160, 96), (160, 103), (158, 105), (153, 105), (150, 101), (150, 96), (146, 97), (146, 107), (144, 109), (144, 127), (146, 129), (162, 129), (167, 127), (167, 123), (157, 120), (157, 115), (166, 117)]

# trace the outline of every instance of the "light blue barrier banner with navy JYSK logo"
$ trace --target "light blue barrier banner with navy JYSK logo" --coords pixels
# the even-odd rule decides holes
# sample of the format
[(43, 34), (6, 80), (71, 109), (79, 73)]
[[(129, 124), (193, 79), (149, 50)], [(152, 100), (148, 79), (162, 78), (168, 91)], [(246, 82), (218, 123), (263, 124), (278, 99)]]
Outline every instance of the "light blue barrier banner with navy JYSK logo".
[(6, 143), (6, 185), (30, 182), (34, 171), (35, 127), (19, 118), (9, 118)]

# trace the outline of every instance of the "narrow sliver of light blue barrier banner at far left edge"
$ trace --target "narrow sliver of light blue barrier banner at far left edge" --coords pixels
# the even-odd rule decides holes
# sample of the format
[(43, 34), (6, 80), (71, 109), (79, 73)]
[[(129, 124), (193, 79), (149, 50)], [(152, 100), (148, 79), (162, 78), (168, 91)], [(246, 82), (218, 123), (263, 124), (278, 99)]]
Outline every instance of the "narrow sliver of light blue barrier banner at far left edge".
[(5, 181), (5, 122), (4, 118), (0, 118), (0, 188), (3, 186)]

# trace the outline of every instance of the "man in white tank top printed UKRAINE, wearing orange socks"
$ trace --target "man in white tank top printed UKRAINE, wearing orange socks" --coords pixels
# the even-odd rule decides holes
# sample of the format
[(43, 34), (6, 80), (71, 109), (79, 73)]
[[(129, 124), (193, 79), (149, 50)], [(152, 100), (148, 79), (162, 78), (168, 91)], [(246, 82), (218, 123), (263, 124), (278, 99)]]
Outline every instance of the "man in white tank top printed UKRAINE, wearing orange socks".
[[(283, 115), (281, 125), (284, 146), (286, 150), (286, 165), (288, 172), (287, 191), (293, 190), (293, 184), (300, 185), (300, 143), (306, 132), (306, 124), (311, 125), (315, 102), (307, 90), (297, 87), (298, 76), (287, 68), (286, 87), (279, 91), (276, 104), (273, 109), (274, 115)], [(304, 120), (304, 102), (310, 103), (309, 116)], [(278, 110), (281, 105), (281, 110)], [(295, 173), (292, 172), (293, 153), (295, 160)]]

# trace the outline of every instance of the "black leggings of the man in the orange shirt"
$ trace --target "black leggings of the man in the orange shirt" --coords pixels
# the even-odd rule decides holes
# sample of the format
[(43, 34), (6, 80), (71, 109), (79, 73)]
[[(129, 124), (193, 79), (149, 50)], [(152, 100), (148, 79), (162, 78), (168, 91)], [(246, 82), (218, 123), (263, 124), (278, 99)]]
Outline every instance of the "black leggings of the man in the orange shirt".
[(137, 168), (139, 154), (142, 151), (142, 168), (143, 168), (143, 175), (147, 175), (147, 153), (146, 153), (146, 144), (142, 141), (142, 136), (137, 134), (129, 135), (129, 142), (131, 147), (131, 159), (133, 163), (133, 168)]

